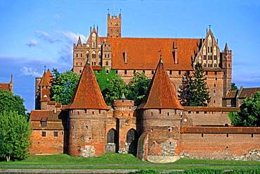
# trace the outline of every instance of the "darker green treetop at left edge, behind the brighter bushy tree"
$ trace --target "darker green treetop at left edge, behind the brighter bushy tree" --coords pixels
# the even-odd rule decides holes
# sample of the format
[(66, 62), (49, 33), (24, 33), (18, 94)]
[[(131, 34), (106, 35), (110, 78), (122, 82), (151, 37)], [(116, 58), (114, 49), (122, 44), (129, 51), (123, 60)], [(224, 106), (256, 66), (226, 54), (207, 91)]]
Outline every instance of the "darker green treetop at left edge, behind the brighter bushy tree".
[(25, 106), (23, 105), (24, 100), (18, 96), (14, 95), (10, 91), (4, 91), (0, 88), (0, 112), (1, 111), (17, 111), (18, 114), (26, 116)]

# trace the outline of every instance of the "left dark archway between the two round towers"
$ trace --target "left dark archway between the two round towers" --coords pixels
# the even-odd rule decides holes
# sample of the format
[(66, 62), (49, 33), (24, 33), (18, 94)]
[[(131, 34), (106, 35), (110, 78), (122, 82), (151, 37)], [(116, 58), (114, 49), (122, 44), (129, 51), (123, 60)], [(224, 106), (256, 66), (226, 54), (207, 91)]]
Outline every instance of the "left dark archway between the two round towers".
[(105, 146), (106, 152), (117, 152), (118, 151), (118, 132), (115, 129), (110, 129), (107, 135), (107, 144)]

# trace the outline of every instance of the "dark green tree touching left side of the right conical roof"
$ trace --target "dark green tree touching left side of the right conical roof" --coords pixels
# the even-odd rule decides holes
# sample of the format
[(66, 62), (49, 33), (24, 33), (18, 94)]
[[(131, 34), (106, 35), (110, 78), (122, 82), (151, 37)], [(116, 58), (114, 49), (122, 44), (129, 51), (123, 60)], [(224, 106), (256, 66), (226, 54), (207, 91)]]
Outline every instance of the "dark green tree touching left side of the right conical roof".
[(150, 82), (151, 79), (146, 77), (144, 73), (134, 73), (134, 77), (128, 84), (129, 93), (126, 96), (126, 99), (134, 100), (136, 106), (140, 105), (143, 97), (145, 97)]

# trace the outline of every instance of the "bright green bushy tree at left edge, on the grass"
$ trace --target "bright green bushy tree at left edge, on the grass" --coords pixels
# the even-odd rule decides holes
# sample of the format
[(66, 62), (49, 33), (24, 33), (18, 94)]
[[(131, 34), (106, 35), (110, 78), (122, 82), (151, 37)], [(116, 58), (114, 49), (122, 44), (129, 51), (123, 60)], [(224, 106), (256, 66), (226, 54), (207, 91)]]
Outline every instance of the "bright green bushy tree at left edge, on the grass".
[(31, 144), (30, 121), (17, 111), (0, 113), (0, 156), (6, 161), (25, 159)]

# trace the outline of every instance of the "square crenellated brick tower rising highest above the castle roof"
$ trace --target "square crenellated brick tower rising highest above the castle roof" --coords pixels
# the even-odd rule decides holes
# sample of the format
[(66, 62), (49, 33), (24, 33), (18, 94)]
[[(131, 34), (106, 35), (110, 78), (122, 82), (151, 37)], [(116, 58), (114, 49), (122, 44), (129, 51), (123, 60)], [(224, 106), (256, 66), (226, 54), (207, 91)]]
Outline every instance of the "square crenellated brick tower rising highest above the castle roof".
[(121, 14), (112, 15), (108, 14), (108, 35), (107, 37), (121, 37)]

